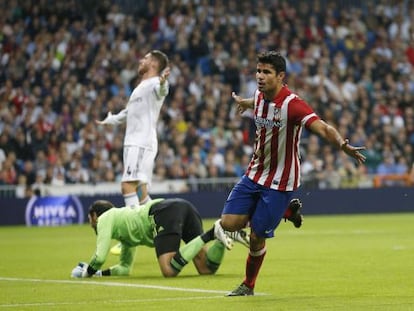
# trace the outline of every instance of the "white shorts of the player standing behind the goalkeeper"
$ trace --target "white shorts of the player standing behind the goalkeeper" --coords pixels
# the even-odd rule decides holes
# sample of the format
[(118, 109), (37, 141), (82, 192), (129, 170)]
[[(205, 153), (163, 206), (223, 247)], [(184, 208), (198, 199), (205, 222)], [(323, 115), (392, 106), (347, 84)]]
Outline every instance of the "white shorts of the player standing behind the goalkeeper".
[(124, 146), (124, 174), (121, 181), (151, 184), (156, 151), (139, 146)]

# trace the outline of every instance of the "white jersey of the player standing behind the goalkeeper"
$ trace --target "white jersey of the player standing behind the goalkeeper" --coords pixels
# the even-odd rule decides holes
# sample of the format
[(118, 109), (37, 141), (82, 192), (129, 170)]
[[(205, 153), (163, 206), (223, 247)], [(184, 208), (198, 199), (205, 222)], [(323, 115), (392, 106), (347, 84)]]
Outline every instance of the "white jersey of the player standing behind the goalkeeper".
[(140, 146), (156, 151), (157, 121), (168, 94), (168, 82), (160, 86), (160, 77), (142, 80), (127, 103), (124, 145)]

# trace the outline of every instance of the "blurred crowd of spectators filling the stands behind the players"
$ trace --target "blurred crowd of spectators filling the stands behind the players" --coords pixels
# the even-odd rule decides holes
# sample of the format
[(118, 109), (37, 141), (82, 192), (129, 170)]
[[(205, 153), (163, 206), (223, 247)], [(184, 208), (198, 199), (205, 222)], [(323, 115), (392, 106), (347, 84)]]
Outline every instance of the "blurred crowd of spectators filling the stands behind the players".
[[(241, 176), (254, 122), (258, 51), (288, 60), (287, 83), (354, 145), (365, 166), (303, 131), (305, 187), (360, 187), (414, 161), (412, 1), (10, 0), (0, 4), (0, 184), (119, 181), (124, 108), (139, 59), (171, 61), (154, 181)], [(391, 4), (392, 3), (392, 4)], [(92, 5), (95, 4), (95, 5)], [(90, 7), (87, 7), (90, 6)]]

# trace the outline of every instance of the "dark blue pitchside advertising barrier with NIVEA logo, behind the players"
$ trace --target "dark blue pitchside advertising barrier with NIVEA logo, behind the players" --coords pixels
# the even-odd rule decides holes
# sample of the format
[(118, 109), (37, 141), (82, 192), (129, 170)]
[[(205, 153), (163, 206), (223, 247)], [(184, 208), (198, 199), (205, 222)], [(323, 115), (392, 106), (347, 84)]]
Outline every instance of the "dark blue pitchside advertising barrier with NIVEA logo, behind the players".
[[(198, 192), (158, 193), (153, 198), (181, 197), (194, 203), (203, 218), (217, 218), (231, 185)], [(359, 214), (414, 212), (414, 187), (384, 187), (371, 189), (299, 190), (303, 213)], [(0, 199), (0, 225), (68, 225), (87, 221), (87, 209), (97, 199), (106, 199), (116, 206), (123, 205), (118, 194), (32, 197), (30, 199)]]

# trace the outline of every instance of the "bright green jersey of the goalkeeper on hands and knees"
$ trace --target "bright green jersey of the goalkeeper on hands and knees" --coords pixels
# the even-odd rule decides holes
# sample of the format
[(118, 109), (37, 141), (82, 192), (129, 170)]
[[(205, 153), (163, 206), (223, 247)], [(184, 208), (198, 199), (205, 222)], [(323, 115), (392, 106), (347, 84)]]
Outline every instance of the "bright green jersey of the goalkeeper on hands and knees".
[(154, 247), (155, 223), (149, 210), (152, 205), (162, 200), (151, 200), (139, 208), (111, 208), (99, 216), (96, 251), (89, 265), (99, 270), (108, 256), (112, 240), (118, 240), (122, 244), (120, 263), (111, 267), (111, 274), (128, 274), (134, 261), (136, 246)]

